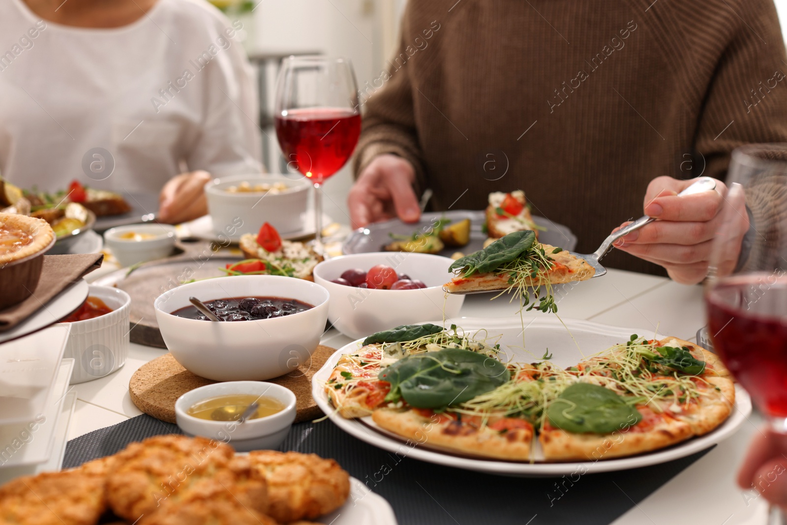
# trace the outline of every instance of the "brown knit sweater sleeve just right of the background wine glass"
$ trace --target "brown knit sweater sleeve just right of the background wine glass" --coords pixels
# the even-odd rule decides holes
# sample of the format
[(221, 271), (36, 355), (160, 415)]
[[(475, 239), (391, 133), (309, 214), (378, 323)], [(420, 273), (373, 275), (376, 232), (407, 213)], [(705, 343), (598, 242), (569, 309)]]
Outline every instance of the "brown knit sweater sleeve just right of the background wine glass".
[(397, 58), (390, 61), (389, 71), (375, 79), (375, 84), (382, 82), (382, 87), (365, 101), (363, 126), (353, 160), (353, 174), (357, 178), (374, 157), (393, 153), (412, 164), (416, 170), (416, 194), (421, 194), (427, 183), (413, 111), (414, 88), (409, 76), (409, 61), (402, 63), (399, 58), (408, 56), (405, 52), (405, 35), (408, 35), (409, 25), (407, 11), (412, 3), (408, 2), (402, 18), (400, 45), (395, 55)]

